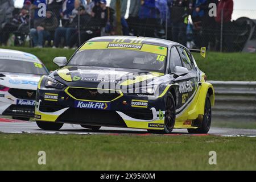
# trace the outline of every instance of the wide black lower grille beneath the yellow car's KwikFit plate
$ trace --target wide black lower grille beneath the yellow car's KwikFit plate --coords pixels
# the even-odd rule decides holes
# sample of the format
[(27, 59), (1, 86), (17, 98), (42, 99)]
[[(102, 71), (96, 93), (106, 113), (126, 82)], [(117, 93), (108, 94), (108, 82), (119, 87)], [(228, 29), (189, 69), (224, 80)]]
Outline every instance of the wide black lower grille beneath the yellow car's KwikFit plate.
[(75, 123), (80, 125), (92, 124), (102, 126), (126, 127), (123, 119), (115, 111), (89, 110), (70, 108), (57, 119), (58, 122)]

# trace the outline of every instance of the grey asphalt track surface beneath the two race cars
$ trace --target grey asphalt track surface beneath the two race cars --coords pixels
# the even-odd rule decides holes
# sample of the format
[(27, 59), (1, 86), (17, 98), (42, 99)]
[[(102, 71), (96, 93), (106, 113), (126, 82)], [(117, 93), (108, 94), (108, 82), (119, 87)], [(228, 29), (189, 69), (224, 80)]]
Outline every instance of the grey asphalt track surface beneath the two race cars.
[[(65, 124), (59, 131), (41, 130), (35, 122), (19, 121), (15, 119), (0, 118), (0, 133), (13, 134), (77, 134), (77, 135), (150, 135), (147, 130), (102, 127), (100, 131), (83, 129), (80, 125)], [(174, 130), (168, 135), (191, 135), (186, 129)], [(218, 135), (224, 137), (256, 137), (256, 130), (226, 129), (212, 127), (208, 135)], [(195, 135), (201, 136), (201, 135)]]

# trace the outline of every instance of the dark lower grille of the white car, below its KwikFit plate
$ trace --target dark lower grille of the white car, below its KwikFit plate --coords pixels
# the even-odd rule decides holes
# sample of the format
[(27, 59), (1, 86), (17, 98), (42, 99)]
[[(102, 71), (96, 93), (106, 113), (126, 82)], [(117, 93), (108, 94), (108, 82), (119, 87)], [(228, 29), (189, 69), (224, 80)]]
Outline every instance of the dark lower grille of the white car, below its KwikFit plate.
[(26, 117), (34, 117), (34, 114), (35, 114), (35, 106), (11, 105), (3, 112), (3, 115), (15, 115), (15, 116), (26, 116)]

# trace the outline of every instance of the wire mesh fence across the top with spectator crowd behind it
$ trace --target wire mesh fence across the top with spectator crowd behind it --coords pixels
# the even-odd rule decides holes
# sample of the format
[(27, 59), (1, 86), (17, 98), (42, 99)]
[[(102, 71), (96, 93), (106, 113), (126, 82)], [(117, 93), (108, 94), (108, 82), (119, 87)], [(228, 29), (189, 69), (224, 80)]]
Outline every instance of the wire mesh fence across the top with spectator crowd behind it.
[(85, 5), (75, 1), (69, 13), (63, 10), (62, 3), (49, 4), (43, 17), (38, 16), (39, 10), (33, 4), (24, 3), (22, 9), (15, 9), (12, 16), (2, 19), (6, 14), (1, 14), (1, 5), (0, 46), (76, 48), (96, 36), (118, 35), (117, 29), (121, 27), (123, 36), (168, 39), (188, 48), (256, 51), (256, 20), (253, 20), (256, 10), (232, 9), (230, 20), (230, 9), (217, 9), (217, 15), (211, 17), (208, 7), (197, 9), (194, 3), (175, 6), (167, 0), (151, 1), (152, 4), (137, 2), (138, 6), (130, 5), (127, 19), (123, 13), (117, 17), (113, 7), (92, 1)]

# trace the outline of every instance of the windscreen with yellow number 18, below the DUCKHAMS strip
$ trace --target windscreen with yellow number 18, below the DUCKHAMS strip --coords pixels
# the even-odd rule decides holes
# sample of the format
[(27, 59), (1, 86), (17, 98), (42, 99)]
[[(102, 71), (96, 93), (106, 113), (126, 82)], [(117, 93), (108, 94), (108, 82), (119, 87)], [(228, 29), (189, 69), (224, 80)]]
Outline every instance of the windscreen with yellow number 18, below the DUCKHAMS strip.
[(88, 49), (78, 51), (69, 61), (68, 65), (143, 69), (164, 73), (166, 56), (133, 50)]

